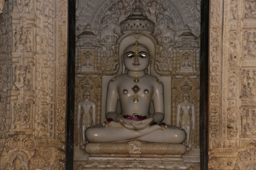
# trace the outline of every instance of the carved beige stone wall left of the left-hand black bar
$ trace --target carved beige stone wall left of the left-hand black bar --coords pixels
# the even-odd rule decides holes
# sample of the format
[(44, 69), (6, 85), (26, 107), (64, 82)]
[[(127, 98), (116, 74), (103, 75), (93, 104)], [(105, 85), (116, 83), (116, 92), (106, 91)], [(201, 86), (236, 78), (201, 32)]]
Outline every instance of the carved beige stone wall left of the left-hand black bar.
[(0, 16), (0, 169), (64, 168), (67, 9), (63, 0), (5, 2)]

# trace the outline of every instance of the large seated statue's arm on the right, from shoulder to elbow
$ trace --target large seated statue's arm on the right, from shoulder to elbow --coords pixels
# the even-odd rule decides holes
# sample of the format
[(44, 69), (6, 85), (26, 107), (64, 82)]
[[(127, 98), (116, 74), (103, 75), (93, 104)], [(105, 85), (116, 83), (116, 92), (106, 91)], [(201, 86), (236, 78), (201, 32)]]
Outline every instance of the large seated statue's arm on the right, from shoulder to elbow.
[(164, 101), (163, 101), (163, 84), (156, 84), (156, 89), (153, 94), (153, 104), (154, 104), (154, 122), (157, 124), (161, 123), (164, 119)]

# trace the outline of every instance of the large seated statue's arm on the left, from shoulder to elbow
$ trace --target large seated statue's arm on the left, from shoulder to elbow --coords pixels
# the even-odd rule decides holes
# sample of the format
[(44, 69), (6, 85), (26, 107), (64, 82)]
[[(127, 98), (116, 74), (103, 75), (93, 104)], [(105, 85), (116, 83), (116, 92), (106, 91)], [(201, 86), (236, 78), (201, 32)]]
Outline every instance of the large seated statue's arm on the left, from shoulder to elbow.
[(116, 113), (117, 101), (119, 99), (117, 83), (116, 81), (110, 81), (108, 84), (108, 91), (106, 94), (106, 119), (112, 118), (114, 121), (118, 122), (116, 119), (118, 114)]

